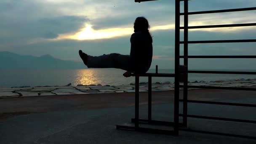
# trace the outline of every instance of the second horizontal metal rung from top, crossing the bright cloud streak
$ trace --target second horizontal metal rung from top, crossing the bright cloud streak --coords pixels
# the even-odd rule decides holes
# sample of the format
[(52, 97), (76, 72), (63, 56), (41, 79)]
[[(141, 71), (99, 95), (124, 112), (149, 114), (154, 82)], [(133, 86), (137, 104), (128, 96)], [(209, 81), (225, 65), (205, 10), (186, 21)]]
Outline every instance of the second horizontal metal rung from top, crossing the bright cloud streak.
[[(207, 26), (191, 26), (188, 29), (204, 29), (204, 28), (217, 28), (217, 27), (248, 27), (248, 26), (256, 26), (256, 23), (250, 24), (220, 24), (220, 25), (207, 25)], [(180, 27), (180, 29), (184, 29), (184, 27)]]

